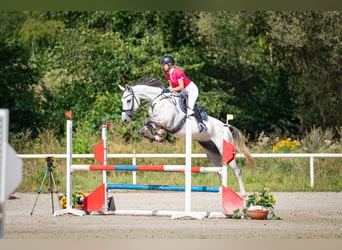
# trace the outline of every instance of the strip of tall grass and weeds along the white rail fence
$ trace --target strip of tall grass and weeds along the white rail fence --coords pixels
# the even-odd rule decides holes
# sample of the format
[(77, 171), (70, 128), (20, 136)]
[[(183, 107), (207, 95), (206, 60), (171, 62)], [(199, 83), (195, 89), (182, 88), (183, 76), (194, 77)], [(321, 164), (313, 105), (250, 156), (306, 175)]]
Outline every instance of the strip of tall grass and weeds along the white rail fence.
[[(337, 153), (341, 152), (339, 141), (327, 139), (324, 136), (328, 132), (314, 130), (301, 140), (300, 146), (295, 148), (280, 148), (286, 152), (307, 152), (307, 145), (310, 149), (315, 148), (315, 152)], [(322, 138), (318, 138), (322, 137)], [(25, 136), (28, 138), (28, 136)], [(114, 139), (115, 138), (115, 139)], [(260, 138), (259, 138), (260, 139)], [(331, 139), (331, 138), (330, 138)], [(101, 140), (100, 134), (95, 134), (85, 139), (85, 133), (81, 129), (74, 132), (73, 148), (74, 153), (92, 153), (93, 147)], [(306, 145), (307, 143), (307, 145)], [(317, 145), (319, 143), (320, 145)], [(12, 142), (18, 153), (26, 154), (60, 154), (65, 153), (65, 139), (57, 140), (53, 132), (41, 131), (39, 137), (34, 141), (17, 140)], [(251, 153), (269, 153), (276, 144), (276, 140), (266, 140), (265, 135), (255, 144), (250, 144)], [(108, 152), (109, 153), (184, 153), (184, 139), (175, 139), (168, 143), (149, 143), (145, 140), (134, 140), (125, 142), (113, 129), (108, 131)], [(193, 142), (193, 153), (203, 153), (200, 145)], [(282, 151), (280, 151), (282, 152)], [(310, 151), (313, 152), (313, 151)], [(315, 159), (315, 186), (310, 187), (309, 159), (279, 159), (279, 158), (257, 158), (255, 169), (246, 168), (244, 159), (237, 159), (238, 165), (243, 172), (243, 181), (247, 192), (254, 192), (260, 188), (260, 183), (265, 184), (272, 191), (332, 191), (342, 190), (342, 159), (341, 158), (319, 158)], [(74, 164), (94, 164), (93, 159), (77, 159)], [(131, 164), (132, 159), (109, 159), (109, 164)], [(184, 164), (184, 159), (137, 159), (137, 164)], [(193, 159), (194, 166), (210, 166), (207, 159)], [(66, 162), (65, 159), (55, 159), (53, 174), (59, 192), (65, 192), (66, 184)], [(45, 159), (25, 159), (23, 168), (23, 181), (17, 191), (36, 192), (43, 180), (47, 164)], [(184, 174), (182, 173), (158, 173), (158, 172), (138, 172), (137, 182), (139, 184), (159, 184), (159, 185), (184, 185)], [(43, 186), (43, 191), (47, 190), (47, 180)], [(87, 193), (92, 192), (102, 183), (102, 173), (95, 171), (78, 171), (73, 174), (73, 185), (80, 186)], [(108, 172), (108, 183), (132, 183), (131, 172)], [(193, 173), (192, 185), (219, 186), (219, 179), (216, 174)], [(228, 168), (228, 185), (239, 191), (237, 179), (233, 171)]]

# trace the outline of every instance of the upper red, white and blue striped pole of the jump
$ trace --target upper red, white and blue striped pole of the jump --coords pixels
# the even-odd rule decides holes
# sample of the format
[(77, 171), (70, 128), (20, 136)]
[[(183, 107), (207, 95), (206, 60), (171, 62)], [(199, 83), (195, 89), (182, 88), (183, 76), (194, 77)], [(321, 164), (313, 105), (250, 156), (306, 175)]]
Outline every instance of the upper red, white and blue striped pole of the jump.
[[(117, 172), (184, 172), (185, 165), (72, 165), (72, 170), (117, 171)], [(192, 167), (193, 173), (219, 173), (222, 167)]]

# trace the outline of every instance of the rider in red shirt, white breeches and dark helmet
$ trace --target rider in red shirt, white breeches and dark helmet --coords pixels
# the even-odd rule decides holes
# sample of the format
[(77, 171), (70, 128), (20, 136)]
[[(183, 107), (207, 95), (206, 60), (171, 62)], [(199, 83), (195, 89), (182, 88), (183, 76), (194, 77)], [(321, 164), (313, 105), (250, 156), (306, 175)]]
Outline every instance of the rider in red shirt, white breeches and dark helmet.
[(169, 81), (169, 90), (171, 92), (181, 91), (182, 94), (188, 96), (188, 107), (190, 111), (188, 111), (188, 115), (194, 114), (196, 119), (198, 120), (198, 130), (200, 133), (203, 133), (207, 130), (207, 127), (203, 123), (202, 117), (198, 112), (195, 112), (194, 106), (196, 100), (198, 98), (198, 88), (196, 84), (191, 81), (184, 72), (175, 65), (175, 60), (172, 56), (163, 56), (160, 60), (160, 64), (162, 65), (164, 71), (166, 72), (166, 78)]

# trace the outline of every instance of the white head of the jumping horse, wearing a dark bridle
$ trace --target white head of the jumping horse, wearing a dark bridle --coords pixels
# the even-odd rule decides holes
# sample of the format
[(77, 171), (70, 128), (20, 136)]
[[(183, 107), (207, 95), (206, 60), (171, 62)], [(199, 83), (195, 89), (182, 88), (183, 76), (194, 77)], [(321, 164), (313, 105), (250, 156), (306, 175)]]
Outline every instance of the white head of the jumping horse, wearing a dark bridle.
[(125, 87), (119, 85), (119, 88), (123, 92), (121, 103), (122, 112), (121, 120), (125, 123), (131, 122), (133, 116), (140, 105), (139, 99), (134, 95), (133, 88), (126, 85)]

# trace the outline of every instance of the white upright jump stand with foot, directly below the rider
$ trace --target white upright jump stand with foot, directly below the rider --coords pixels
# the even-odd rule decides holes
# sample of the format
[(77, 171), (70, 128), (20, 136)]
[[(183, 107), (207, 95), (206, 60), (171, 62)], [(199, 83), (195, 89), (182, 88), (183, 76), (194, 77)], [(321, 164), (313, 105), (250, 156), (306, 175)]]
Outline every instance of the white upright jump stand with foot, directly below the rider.
[[(189, 110), (188, 110), (189, 113)], [(191, 212), (191, 146), (192, 146), (192, 129), (191, 116), (186, 119), (186, 137), (185, 137), (185, 211), (175, 212), (172, 214), (172, 219), (182, 217), (191, 217), (195, 219), (203, 219), (204, 216), (200, 213)]]

